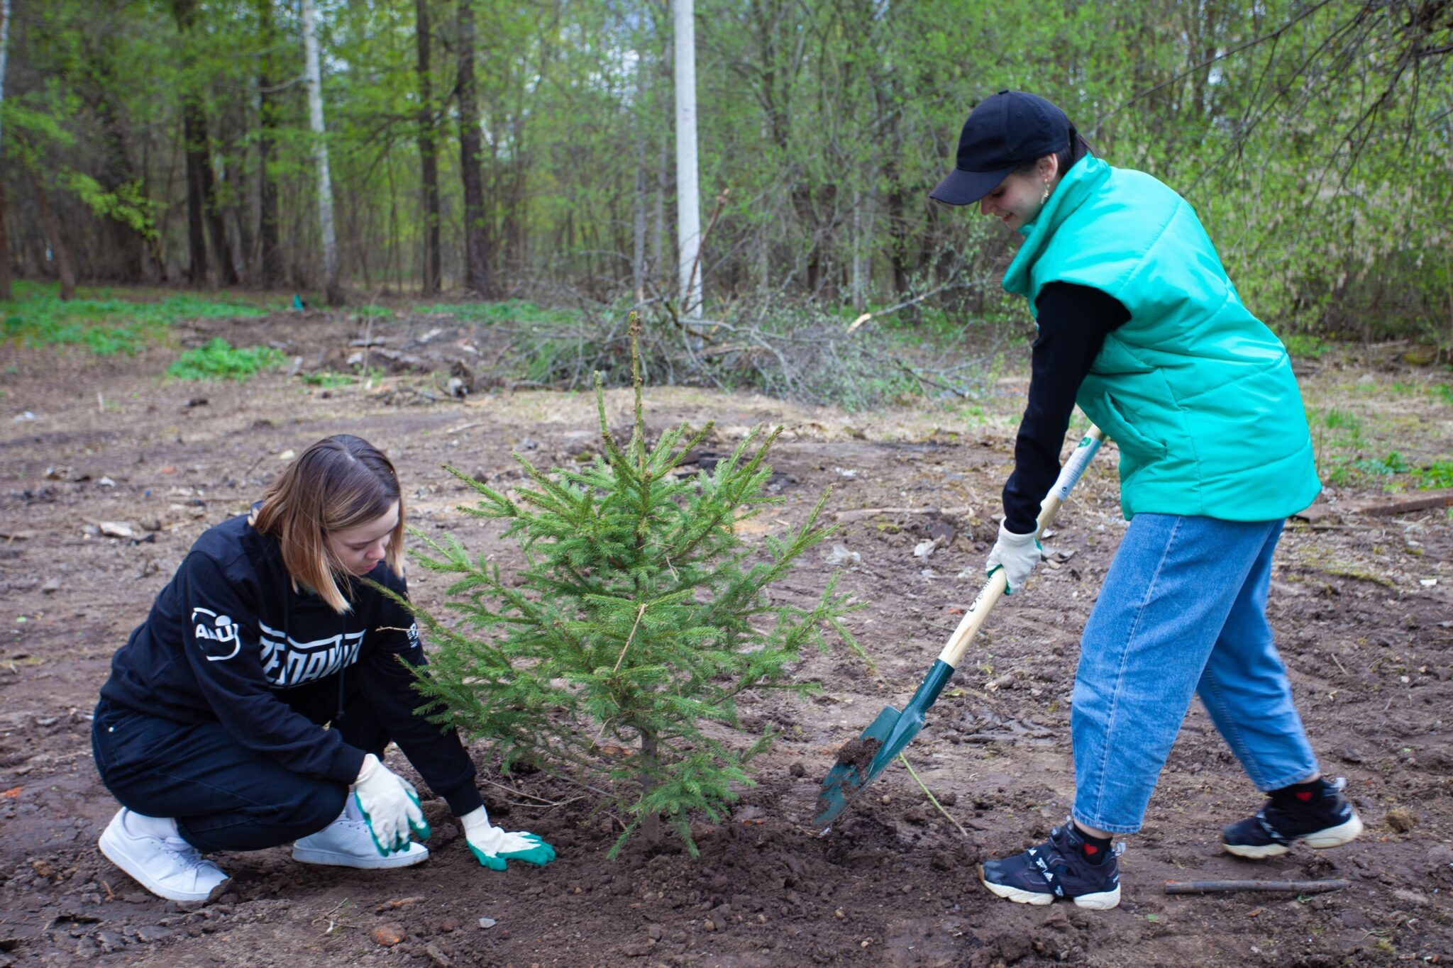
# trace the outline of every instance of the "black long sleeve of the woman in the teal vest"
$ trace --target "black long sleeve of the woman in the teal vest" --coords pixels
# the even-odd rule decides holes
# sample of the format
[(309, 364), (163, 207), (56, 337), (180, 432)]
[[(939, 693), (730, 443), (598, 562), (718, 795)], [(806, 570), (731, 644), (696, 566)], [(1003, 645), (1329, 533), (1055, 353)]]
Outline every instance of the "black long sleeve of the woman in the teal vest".
[(1029, 534), (1039, 504), (1059, 476), (1059, 450), (1075, 409), (1075, 393), (1107, 334), (1130, 319), (1098, 289), (1046, 283), (1035, 300), (1039, 337), (1030, 357), (1029, 405), (1014, 438), (1014, 473), (1004, 485), (1004, 527)]

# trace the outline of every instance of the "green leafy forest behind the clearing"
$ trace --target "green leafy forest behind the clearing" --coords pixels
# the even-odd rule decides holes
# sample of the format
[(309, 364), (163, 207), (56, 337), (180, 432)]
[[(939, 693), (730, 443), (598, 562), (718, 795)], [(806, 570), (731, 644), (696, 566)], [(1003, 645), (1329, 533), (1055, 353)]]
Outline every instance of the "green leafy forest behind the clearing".
[[(299, 3), (6, 6), (4, 289), (323, 287)], [(315, 7), (350, 299), (677, 299), (668, 3)], [(1023, 316), (997, 286), (1017, 237), (927, 199), (966, 112), (1013, 87), (1187, 196), (1283, 335), (1453, 345), (1447, 0), (697, 0), (695, 22), (713, 318)]]

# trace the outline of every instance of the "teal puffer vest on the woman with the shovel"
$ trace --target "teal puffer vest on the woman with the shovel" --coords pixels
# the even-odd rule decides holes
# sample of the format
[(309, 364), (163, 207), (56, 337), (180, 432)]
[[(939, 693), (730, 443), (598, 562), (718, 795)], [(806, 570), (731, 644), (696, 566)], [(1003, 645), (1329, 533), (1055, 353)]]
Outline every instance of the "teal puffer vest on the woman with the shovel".
[(1321, 491), (1282, 341), (1241, 303), (1196, 212), (1141, 171), (1087, 157), (1045, 203), (1004, 289), (1093, 286), (1130, 319), (1077, 402), (1120, 448), (1120, 506), (1271, 521)]

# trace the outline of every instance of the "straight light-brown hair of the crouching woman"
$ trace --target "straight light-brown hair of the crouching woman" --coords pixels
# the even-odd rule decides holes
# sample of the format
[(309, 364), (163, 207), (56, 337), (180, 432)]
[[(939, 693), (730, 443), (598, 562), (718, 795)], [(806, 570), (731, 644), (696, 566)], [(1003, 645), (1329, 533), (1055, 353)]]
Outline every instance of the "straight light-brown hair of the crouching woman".
[(395, 501), (398, 524), (389, 536), (385, 560), (402, 576), (404, 496), (398, 473), (373, 444), (339, 434), (302, 451), (267, 486), (253, 527), (260, 534), (278, 536), (294, 591), (312, 591), (341, 615), (353, 608), (339, 588), (340, 578), (349, 586), (347, 572), (328, 551), (327, 536), (384, 517)]

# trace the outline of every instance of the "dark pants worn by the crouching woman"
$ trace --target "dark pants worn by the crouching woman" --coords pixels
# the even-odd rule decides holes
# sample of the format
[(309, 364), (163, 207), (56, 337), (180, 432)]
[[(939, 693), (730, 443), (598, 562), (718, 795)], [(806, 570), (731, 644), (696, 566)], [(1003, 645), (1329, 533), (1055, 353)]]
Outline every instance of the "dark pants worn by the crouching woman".
[[(333, 720), (343, 742), (382, 758), (388, 734), (357, 689), (339, 713), (337, 679), (280, 695), (318, 729)], [(199, 850), (260, 850), (317, 833), (343, 811), (344, 784), (295, 774), (238, 743), (219, 723), (176, 723), (105, 700), (92, 723), (102, 782), (124, 807), (174, 817)]]

